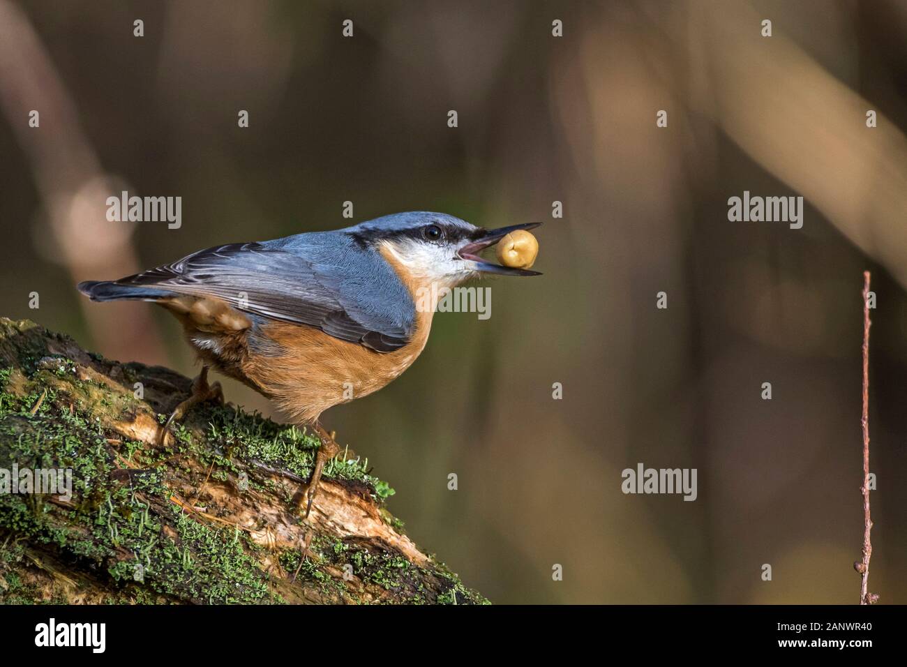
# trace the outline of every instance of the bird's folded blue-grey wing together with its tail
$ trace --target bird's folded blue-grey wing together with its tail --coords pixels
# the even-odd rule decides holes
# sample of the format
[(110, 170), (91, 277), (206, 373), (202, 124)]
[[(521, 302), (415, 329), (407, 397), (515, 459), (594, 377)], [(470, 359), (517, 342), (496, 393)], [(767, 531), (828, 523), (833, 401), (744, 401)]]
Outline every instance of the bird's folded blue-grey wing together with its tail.
[[(300, 240), (302, 236), (313, 239)], [(317, 327), (379, 352), (403, 347), (413, 334), (414, 304), (394, 270), (374, 251), (320, 234), (302, 236), (293, 243), (231, 243), (200, 250), (156, 269), (80, 289), (100, 299), (105, 289), (150, 289), (152, 298), (168, 293), (211, 296), (243, 312)], [(124, 296), (130, 298), (113, 293), (110, 298)]]

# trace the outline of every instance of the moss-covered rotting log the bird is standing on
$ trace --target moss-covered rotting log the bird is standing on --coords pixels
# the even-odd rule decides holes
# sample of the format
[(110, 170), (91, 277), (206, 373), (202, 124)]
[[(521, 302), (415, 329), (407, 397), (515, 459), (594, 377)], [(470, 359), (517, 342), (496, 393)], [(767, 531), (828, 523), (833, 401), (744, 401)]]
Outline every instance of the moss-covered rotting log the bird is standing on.
[[(348, 450), (304, 520), (305, 430), (204, 404), (159, 444), (190, 384), (0, 319), (0, 603), (486, 602)], [(70, 470), (71, 494), (13, 493), (14, 473), (46, 470)]]

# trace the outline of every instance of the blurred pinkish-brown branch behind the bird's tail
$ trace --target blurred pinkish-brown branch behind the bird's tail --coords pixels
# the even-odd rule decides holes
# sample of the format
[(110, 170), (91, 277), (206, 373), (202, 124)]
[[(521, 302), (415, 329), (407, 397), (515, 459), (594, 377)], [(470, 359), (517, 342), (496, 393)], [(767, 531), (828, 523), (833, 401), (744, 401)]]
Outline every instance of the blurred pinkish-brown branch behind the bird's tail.
[[(0, 107), (31, 164), (47, 216), (42, 227), (49, 229), (35, 233), (35, 246), (69, 270), (73, 298), (79, 280), (140, 270), (132, 227), (106, 220), (106, 199), (121, 188), (102, 170), (73, 97), (28, 16), (8, 0), (0, 0)], [(39, 113), (37, 127), (28, 124), (31, 111)], [(146, 360), (166, 358), (148, 309), (112, 304), (103, 312), (84, 310), (88, 301), (79, 301), (105, 354), (127, 358), (139, 349)]]

